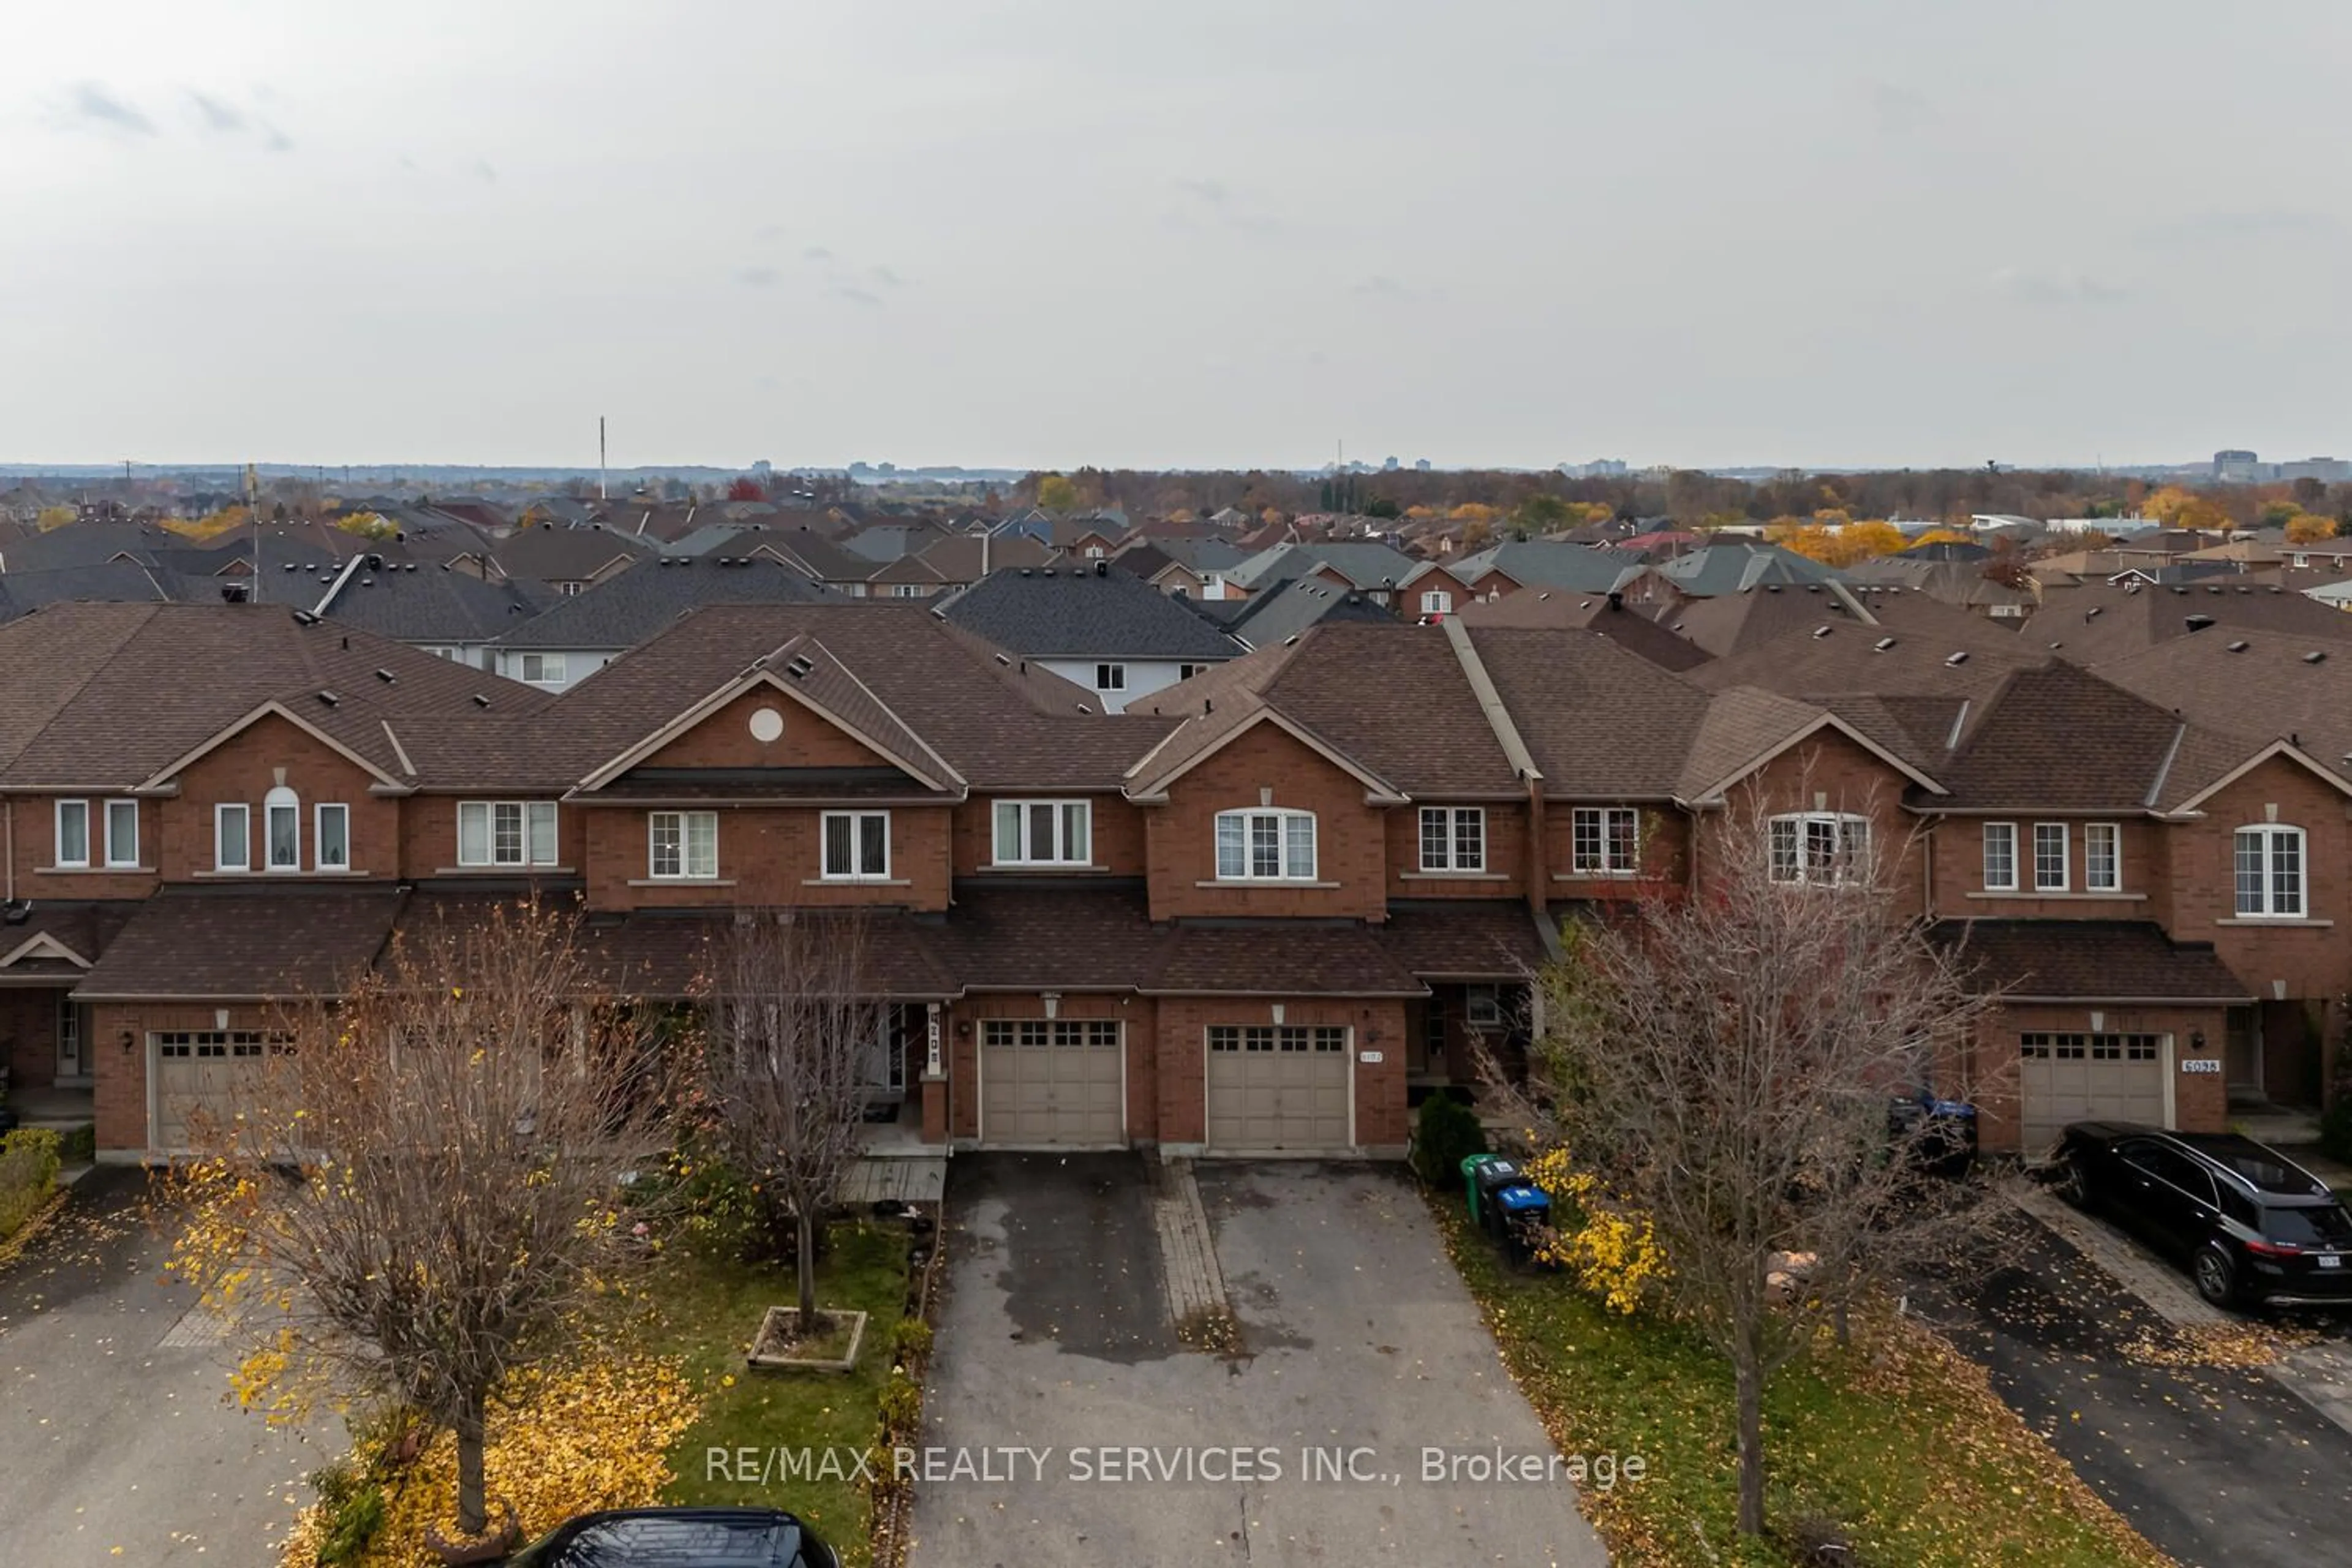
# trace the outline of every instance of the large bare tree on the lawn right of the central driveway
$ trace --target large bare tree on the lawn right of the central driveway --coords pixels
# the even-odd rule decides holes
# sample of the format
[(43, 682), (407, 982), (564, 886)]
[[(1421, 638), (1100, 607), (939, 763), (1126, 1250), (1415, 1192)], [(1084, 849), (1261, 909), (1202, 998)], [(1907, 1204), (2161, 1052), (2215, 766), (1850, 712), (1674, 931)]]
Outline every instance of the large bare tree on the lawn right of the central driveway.
[(1889, 1110), (1938, 1070), (1985, 1093), (1950, 1077), (1994, 999), (1898, 907), (1896, 853), (1759, 799), (1715, 827), (1700, 886), (1646, 889), (1541, 978), (1522, 1110), (1649, 1215), (1672, 1307), (1731, 1361), (1759, 1533), (1766, 1380), (1990, 1211), (1922, 1178), (1945, 1128)]

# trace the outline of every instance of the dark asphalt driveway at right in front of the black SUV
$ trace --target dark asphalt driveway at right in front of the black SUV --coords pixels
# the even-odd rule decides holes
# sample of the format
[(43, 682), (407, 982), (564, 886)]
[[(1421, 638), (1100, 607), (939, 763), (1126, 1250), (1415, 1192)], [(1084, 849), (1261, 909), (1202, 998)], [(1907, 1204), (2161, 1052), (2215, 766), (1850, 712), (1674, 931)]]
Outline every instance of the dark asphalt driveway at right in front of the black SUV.
[(2042, 1225), (2018, 1215), (1992, 1267), (1957, 1269), (1924, 1305), (2187, 1568), (2352, 1561), (2352, 1434), (2260, 1368), (2166, 1366), (2178, 1333)]

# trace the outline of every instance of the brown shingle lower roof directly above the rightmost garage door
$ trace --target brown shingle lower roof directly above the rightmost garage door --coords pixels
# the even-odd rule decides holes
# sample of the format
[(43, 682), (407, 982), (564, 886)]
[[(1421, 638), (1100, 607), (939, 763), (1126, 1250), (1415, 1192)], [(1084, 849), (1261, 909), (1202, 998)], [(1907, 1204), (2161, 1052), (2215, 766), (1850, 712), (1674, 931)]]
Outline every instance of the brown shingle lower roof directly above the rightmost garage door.
[(1929, 938), (1980, 992), (2067, 1001), (2251, 1001), (2209, 943), (2173, 943), (2136, 919), (1945, 919)]

